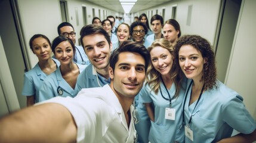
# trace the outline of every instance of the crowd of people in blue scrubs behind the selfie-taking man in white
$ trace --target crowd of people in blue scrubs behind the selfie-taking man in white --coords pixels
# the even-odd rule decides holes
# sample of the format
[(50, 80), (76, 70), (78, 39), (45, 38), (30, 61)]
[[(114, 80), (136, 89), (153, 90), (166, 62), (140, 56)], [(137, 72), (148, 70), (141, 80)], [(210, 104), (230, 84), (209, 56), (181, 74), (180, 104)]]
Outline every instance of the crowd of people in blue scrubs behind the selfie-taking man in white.
[[(92, 25), (84, 29), (88, 36), (80, 40), (86, 64), (74, 61), (78, 48), (72, 41), (72, 26), (52, 45), (44, 35), (33, 36), (30, 48), (39, 62), (24, 76), (27, 105), (57, 96), (75, 97), (83, 88), (109, 84), (112, 51), (124, 41), (135, 41), (150, 52), (146, 81), (135, 97), (132, 115), (138, 142), (255, 141), (255, 119), (246, 110), (243, 98), (217, 79), (210, 43), (198, 35), (181, 36), (174, 19), (164, 23), (161, 15), (153, 15), (152, 30), (145, 21), (148, 23), (146, 14), (141, 14), (131, 26), (121, 23), (113, 33), (111, 20), (101, 23), (94, 18), (92, 23), (105, 31), (90, 33)], [(101, 43), (100, 39), (106, 40)], [(240, 133), (230, 138), (233, 129)]]

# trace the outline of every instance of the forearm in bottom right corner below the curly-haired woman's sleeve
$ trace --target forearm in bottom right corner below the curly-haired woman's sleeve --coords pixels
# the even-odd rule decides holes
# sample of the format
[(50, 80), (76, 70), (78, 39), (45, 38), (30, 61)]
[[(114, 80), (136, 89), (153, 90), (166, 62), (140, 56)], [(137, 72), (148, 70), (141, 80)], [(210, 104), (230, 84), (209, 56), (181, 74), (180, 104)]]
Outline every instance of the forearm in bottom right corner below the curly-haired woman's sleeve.
[(254, 142), (256, 141), (256, 129), (254, 132), (249, 134), (239, 133), (238, 135), (232, 136), (230, 138), (222, 139), (218, 143), (244, 143), (244, 142)]

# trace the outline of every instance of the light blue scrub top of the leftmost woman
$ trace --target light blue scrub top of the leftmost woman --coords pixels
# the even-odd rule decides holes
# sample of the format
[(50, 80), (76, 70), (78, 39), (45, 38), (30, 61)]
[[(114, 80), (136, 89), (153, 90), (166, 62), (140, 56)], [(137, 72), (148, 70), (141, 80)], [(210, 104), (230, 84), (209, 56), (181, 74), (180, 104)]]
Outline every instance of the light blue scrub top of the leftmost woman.
[[(57, 67), (60, 66), (60, 61), (54, 59), (55, 64), (57, 64)], [(39, 101), (39, 89), (42, 86), (42, 83), (44, 83), (44, 79), (48, 75), (44, 73), (44, 71), (41, 70), (39, 67), (39, 64), (36, 64), (33, 69), (27, 71), (24, 73), (24, 83), (23, 83), (23, 90), (21, 92), (21, 95), (24, 96), (32, 96), (35, 95), (35, 102)]]

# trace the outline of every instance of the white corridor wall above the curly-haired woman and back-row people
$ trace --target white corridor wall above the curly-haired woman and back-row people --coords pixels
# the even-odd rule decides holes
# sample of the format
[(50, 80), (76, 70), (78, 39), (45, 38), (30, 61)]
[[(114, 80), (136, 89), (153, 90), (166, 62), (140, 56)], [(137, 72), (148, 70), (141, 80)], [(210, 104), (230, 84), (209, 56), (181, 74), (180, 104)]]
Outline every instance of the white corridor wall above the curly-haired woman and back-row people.
[[(215, 38), (215, 31), (217, 29), (218, 14), (220, 11), (220, 0), (173, 0), (166, 4), (158, 5), (157, 7), (150, 8), (149, 10), (140, 11), (133, 15), (140, 15), (141, 13), (148, 13), (147, 18), (151, 18), (151, 11), (153, 15), (162, 14), (162, 9), (165, 8), (165, 21), (171, 18), (172, 7), (177, 6), (176, 20), (180, 24), (181, 34), (197, 34), (203, 36), (213, 43)], [(187, 26), (187, 11), (189, 5), (192, 5), (191, 23)]]

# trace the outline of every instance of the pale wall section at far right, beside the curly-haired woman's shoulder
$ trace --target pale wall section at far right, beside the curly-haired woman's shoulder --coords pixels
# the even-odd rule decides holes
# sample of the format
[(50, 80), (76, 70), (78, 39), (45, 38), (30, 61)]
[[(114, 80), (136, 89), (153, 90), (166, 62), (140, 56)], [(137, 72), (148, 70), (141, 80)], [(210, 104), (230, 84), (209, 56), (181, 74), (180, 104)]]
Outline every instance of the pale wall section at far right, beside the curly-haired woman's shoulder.
[(254, 119), (256, 119), (255, 7), (255, 0), (244, 1), (226, 76), (226, 85), (242, 95), (243, 102)]

